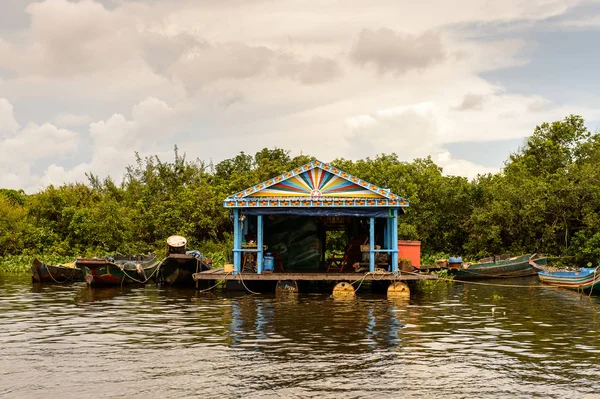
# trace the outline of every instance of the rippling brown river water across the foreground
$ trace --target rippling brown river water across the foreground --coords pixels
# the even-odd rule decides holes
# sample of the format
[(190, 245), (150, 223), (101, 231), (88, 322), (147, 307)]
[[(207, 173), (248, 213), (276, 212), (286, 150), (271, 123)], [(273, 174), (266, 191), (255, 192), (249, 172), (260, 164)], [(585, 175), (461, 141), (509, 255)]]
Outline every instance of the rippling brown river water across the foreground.
[(337, 301), (0, 275), (0, 397), (600, 397), (600, 298), (502, 283), (532, 287)]

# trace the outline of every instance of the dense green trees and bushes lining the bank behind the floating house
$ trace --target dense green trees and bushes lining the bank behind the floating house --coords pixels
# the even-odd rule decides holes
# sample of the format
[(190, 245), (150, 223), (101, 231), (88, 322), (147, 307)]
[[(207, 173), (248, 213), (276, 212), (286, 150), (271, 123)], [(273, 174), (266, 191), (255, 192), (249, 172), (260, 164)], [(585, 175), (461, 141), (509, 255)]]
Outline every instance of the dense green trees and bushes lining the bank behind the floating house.
[[(311, 159), (264, 149), (213, 165), (176, 148), (173, 162), (138, 156), (120, 184), (90, 174), (87, 185), (32, 195), (2, 189), (0, 257), (162, 251), (168, 236), (181, 234), (223, 259), (232, 240), (223, 199)], [(425, 257), (544, 252), (600, 260), (600, 138), (581, 117), (536, 127), (501, 172), (473, 181), (444, 176), (430, 158), (332, 164), (408, 198), (399, 237), (420, 240)]]

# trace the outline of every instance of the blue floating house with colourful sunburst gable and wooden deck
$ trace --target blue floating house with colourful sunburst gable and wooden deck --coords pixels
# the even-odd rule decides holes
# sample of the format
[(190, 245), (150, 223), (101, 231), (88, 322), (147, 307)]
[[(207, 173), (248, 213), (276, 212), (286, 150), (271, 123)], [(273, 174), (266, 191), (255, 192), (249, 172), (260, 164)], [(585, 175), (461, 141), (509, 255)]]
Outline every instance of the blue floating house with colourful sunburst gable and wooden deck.
[[(299, 166), (223, 205), (233, 220), (233, 268), (196, 280), (329, 280), (353, 293), (344, 281), (431, 278), (398, 270), (398, 218), (408, 200), (327, 163)], [(330, 240), (345, 249), (333, 253)]]

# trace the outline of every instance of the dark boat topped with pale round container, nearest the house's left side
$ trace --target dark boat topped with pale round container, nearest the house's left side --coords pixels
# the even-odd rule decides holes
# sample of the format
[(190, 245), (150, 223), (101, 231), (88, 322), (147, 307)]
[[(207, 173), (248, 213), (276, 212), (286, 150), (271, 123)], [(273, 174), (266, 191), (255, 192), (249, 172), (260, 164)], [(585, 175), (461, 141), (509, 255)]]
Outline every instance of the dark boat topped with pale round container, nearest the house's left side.
[(167, 239), (167, 257), (159, 267), (159, 281), (167, 285), (193, 285), (192, 275), (210, 270), (211, 263), (200, 251), (186, 251), (187, 240), (181, 236)]

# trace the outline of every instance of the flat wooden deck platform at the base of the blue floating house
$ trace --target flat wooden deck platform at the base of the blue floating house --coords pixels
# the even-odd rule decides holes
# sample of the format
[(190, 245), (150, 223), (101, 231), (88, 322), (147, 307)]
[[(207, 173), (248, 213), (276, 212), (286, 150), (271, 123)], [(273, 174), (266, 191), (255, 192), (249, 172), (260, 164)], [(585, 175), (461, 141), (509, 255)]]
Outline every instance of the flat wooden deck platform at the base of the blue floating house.
[[(240, 275), (225, 273), (223, 269), (211, 269), (200, 273), (194, 273), (194, 280), (240, 280)], [(408, 274), (408, 273), (326, 273), (326, 272), (273, 272), (273, 273), (250, 273), (244, 272), (241, 279), (248, 281), (409, 281), (409, 280), (435, 280), (431, 274)]]

